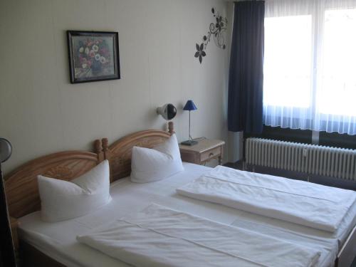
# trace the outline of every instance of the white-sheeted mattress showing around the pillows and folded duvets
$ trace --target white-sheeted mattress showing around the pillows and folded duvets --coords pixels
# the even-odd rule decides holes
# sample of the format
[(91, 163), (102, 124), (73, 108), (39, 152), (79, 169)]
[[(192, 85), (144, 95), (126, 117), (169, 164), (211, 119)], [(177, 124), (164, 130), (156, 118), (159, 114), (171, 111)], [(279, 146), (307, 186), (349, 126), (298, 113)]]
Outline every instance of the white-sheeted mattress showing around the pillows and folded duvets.
[[(112, 196), (110, 204), (91, 214), (56, 223), (41, 221), (39, 211), (23, 216), (19, 219), (20, 238), (66, 266), (111, 267), (127, 265), (89, 246), (80, 244), (75, 237), (108, 221), (145, 209), (151, 203), (202, 216), (222, 224), (277, 236), (303, 246), (313, 246), (313, 242), (328, 244), (332, 239), (338, 239), (341, 245), (356, 224), (356, 205), (352, 206), (350, 212), (342, 220), (340, 228), (335, 233), (328, 233), (219, 204), (179, 196), (176, 193), (177, 187), (196, 179), (209, 169), (209, 167), (197, 164), (184, 163), (184, 172), (161, 181), (135, 184), (128, 178), (120, 179), (110, 185)], [(330, 255), (324, 256), (325, 266), (333, 263), (336, 253), (337, 251), (333, 251)]]

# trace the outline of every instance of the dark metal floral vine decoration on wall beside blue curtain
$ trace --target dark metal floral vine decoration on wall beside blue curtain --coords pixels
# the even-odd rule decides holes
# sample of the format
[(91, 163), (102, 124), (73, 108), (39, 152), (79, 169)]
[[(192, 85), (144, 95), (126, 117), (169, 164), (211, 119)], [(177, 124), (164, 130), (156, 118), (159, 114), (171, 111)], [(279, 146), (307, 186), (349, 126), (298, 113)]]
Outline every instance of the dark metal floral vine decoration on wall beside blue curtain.
[(210, 42), (211, 36), (214, 38), (214, 43), (221, 49), (226, 48), (224, 32), (227, 29), (227, 19), (216, 12), (214, 7), (211, 9), (211, 13), (214, 16), (214, 22), (209, 25), (209, 31), (203, 36), (202, 42), (196, 44), (197, 52), (194, 57), (199, 59), (199, 62), (203, 61), (203, 57), (206, 56), (206, 46)]

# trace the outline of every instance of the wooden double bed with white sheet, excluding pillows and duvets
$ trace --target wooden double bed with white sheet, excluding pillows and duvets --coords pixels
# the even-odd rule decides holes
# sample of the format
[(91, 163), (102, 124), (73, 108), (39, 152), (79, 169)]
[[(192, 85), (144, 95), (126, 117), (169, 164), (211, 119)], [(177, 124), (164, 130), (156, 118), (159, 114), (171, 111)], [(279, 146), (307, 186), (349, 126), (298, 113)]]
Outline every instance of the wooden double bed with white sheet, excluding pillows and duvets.
[[(127, 266), (110, 256), (106, 256), (89, 246), (78, 243), (75, 236), (88, 229), (116, 219), (122, 214), (140, 211), (149, 203), (162, 204), (197, 216), (202, 216), (222, 224), (253, 229), (261, 234), (278, 236), (290, 242), (313, 247), (313, 243), (328, 244), (331, 239), (340, 243), (337, 251), (323, 255), (325, 266), (350, 266), (355, 256), (356, 205), (335, 233), (310, 229), (305, 226), (250, 214), (218, 204), (179, 196), (180, 187), (209, 170), (209, 167), (184, 163), (184, 172), (168, 179), (148, 184), (135, 184), (130, 175), (130, 156), (134, 145), (152, 147), (172, 134), (169, 132), (146, 130), (123, 137), (112, 145), (108, 140), (95, 141), (95, 152), (60, 152), (41, 157), (23, 165), (6, 178), (6, 198), (9, 213), (19, 221), (21, 255), (25, 266)], [(57, 179), (74, 179), (93, 168), (96, 164), (110, 161), (110, 194), (113, 201), (103, 209), (91, 214), (61, 221), (46, 223), (39, 216), (40, 200), (36, 176), (44, 174)], [(335, 263), (334, 263), (335, 262)]]

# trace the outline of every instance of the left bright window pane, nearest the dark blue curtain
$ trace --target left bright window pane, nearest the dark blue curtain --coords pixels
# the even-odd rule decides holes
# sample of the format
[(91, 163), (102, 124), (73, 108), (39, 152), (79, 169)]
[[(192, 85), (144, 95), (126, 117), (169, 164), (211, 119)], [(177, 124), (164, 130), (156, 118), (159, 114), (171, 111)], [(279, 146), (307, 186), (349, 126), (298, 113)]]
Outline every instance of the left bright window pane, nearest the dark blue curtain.
[(265, 19), (264, 105), (310, 107), (311, 29), (310, 15)]

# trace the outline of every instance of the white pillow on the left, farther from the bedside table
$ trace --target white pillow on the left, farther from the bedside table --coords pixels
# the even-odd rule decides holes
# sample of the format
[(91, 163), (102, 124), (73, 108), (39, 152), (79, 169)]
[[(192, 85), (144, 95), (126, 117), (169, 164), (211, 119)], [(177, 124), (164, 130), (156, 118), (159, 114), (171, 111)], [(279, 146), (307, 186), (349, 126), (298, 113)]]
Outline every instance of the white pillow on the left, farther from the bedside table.
[(83, 216), (111, 201), (109, 162), (104, 160), (70, 182), (38, 175), (38, 189), (43, 221)]

